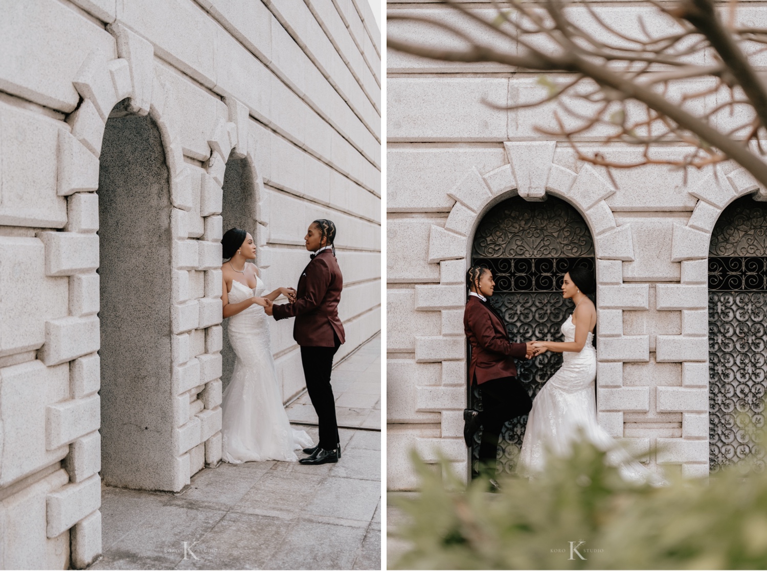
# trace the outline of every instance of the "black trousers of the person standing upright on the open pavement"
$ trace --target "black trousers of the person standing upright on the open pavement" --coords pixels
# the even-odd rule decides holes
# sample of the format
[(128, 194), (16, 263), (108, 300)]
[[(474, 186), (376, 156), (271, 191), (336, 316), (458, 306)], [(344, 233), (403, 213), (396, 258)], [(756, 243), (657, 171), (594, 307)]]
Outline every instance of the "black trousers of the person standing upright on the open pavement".
[(320, 430), (320, 448), (334, 450), (341, 441), (338, 438), (338, 423), (335, 418), (335, 398), (331, 386), (333, 357), (341, 346), (341, 341), (334, 334), (334, 347), (301, 346), (301, 365), (304, 366), (306, 390), (311, 405), (317, 412)]

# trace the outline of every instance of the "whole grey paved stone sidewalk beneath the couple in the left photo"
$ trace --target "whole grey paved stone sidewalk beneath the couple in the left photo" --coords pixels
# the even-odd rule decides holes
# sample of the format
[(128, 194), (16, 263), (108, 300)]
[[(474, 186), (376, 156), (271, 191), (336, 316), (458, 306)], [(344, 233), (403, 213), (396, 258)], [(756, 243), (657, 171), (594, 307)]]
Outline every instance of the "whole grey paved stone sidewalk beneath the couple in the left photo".
[[(339, 422), (372, 425), (377, 413), (380, 426), (380, 337), (333, 379), (337, 401), (354, 405)], [(357, 399), (374, 385), (375, 402)], [(295, 428), (317, 441), (317, 428)], [(104, 556), (91, 569), (380, 569), (381, 434), (340, 432), (337, 464), (222, 463), (179, 495), (103, 487)]]

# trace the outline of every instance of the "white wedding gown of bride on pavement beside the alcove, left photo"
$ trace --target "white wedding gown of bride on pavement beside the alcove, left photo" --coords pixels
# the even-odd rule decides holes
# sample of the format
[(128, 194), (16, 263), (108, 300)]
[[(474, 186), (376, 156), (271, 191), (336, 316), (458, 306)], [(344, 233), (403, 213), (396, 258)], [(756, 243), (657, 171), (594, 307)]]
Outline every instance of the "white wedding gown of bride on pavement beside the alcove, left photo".
[[(255, 291), (233, 280), (229, 303), (263, 296), (266, 286), (260, 277), (257, 280)], [(223, 460), (232, 464), (298, 461), (294, 450), (314, 444), (306, 432), (293, 430), (288, 422), (277, 384), (269, 317), (264, 308), (253, 304), (229, 317), (229, 342), (237, 360), (221, 404)]]

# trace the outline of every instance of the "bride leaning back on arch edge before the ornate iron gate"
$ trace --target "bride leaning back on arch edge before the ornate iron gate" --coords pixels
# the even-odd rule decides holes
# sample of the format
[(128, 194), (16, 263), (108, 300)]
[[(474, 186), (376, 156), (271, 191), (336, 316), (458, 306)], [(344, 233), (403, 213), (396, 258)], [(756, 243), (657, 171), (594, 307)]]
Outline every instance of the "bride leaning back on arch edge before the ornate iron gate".
[(657, 484), (661, 479), (632, 458), (597, 423), (597, 352), (592, 345), (597, 311), (586, 295), (594, 291), (594, 285), (593, 272), (584, 267), (574, 267), (565, 274), (562, 295), (575, 304), (574, 312), (562, 324), (565, 342), (533, 343), (534, 356), (546, 351), (563, 353), (563, 363), (532, 402), (517, 471), (528, 477), (541, 474), (548, 453), (568, 455), (574, 439), (583, 434), (607, 452), (607, 463), (617, 466), (624, 480)]

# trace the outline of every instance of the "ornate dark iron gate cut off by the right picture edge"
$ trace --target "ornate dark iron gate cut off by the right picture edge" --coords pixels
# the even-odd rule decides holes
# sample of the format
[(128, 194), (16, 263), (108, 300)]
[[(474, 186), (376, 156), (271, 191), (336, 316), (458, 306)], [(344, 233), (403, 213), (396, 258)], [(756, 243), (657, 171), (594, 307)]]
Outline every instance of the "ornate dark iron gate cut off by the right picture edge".
[(765, 449), (767, 204), (736, 200), (716, 222), (709, 246), (709, 470)]

